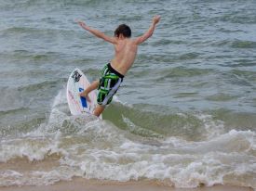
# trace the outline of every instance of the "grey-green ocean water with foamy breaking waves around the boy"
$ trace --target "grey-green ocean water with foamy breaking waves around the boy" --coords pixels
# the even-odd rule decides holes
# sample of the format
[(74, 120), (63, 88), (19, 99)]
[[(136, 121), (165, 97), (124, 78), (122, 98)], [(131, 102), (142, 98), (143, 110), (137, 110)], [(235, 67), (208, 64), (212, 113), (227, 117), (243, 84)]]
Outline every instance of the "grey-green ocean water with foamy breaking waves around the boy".
[[(154, 35), (103, 114), (71, 116), (75, 67), (99, 78), (127, 23)], [(73, 177), (256, 188), (256, 1), (0, 0), (0, 186)]]

